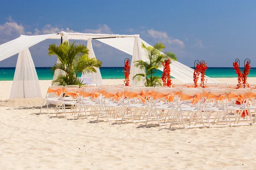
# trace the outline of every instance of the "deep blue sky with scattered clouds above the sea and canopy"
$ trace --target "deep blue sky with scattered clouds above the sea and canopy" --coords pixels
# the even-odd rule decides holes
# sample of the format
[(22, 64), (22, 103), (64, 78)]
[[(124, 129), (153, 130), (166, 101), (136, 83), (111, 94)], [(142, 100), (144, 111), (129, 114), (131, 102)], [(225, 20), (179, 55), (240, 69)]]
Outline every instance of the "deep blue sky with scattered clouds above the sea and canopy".
[[(151, 45), (163, 42), (179, 62), (193, 66), (204, 59), (209, 67), (232, 67), (246, 58), (256, 67), (255, 0), (9, 0), (0, 10), (0, 44), (25, 35), (60, 31), (96, 34), (140, 34)], [(87, 44), (87, 41), (76, 41)], [(29, 48), (36, 67), (51, 67), (45, 40)], [(93, 40), (103, 67), (122, 67), (131, 58)], [(0, 62), (15, 67), (17, 55)]]

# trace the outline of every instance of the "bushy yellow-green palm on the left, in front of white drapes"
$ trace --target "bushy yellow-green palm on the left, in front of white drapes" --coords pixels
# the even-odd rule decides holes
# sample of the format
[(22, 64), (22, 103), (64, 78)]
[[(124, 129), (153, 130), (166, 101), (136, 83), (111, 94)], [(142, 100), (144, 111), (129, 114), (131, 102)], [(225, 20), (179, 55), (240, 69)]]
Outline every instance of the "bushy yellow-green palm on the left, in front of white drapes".
[(56, 55), (60, 63), (56, 63), (51, 70), (64, 71), (64, 75), (59, 75), (52, 85), (83, 85), (78, 77), (83, 73), (96, 73), (95, 68), (100, 68), (102, 62), (96, 58), (90, 59), (89, 50), (85, 45), (76, 45), (75, 42), (63, 42), (61, 45), (50, 44), (48, 55)]

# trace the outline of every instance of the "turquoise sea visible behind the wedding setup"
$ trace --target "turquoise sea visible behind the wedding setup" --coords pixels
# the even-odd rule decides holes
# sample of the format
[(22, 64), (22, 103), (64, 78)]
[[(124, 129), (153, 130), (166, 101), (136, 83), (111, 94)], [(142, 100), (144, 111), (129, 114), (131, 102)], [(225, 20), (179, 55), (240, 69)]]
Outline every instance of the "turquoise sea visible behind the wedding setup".
[[(36, 68), (38, 78), (40, 80), (51, 80), (53, 72), (49, 70), (49, 67)], [(241, 71), (243, 68), (241, 68)], [(124, 79), (123, 67), (102, 67), (100, 68), (102, 79)], [(13, 80), (15, 68), (0, 68), (0, 80)], [(163, 72), (158, 71), (157, 74), (161, 76)], [(206, 75), (212, 78), (225, 78), (225, 77), (237, 77), (234, 68), (221, 68), (221, 67), (209, 67), (206, 71)], [(256, 77), (256, 68), (250, 69), (248, 77)]]

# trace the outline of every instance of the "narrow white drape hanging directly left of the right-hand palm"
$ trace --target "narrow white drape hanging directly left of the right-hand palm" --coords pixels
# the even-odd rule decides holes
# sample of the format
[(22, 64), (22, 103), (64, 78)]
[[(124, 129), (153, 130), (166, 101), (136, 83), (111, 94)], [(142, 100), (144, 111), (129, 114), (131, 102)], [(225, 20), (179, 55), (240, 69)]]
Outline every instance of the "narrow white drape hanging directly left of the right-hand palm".
[(136, 74), (142, 74), (145, 71), (141, 70), (140, 68), (134, 67), (134, 62), (137, 60), (142, 60), (142, 54), (141, 54), (141, 42), (139, 40), (139, 37), (135, 37), (134, 39), (134, 49), (133, 49), (133, 54), (132, 54), (132, 58), (131, 58), (131, 71), (130, 71), (130, 85), (134, 86), (134, 85), (144, 85), (143, 80), (141, 79), (140, 81), (138, 80), (133, 80), (133, 77)]

